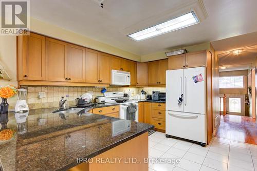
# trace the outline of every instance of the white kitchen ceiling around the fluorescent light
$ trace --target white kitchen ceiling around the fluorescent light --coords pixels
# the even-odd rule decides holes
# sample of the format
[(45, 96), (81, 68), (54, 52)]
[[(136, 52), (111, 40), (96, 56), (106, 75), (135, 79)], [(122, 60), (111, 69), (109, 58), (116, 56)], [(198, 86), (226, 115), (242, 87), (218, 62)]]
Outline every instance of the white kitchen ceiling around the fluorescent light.
[(140, 42), (124, 35), (127, 28), (137, 28), (136, 32), (153, 25), (153, 21), (161, 23), (157, 22), (158, 16), (180, 9), (182, 12), (185, 8), (181, 7), (195, 1), (105, 0), (101, 8), (94, 0), (33, 0), (30, 15), (138, 55), (257, 31), (256, 0), (203, 0), (209, 16), (199, 24)]

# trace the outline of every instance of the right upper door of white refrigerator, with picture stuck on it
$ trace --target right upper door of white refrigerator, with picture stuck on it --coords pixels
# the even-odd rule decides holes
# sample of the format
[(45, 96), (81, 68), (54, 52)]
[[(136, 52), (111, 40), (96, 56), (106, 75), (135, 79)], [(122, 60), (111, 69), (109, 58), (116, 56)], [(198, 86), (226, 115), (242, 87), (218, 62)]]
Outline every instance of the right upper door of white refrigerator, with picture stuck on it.
[[(205, 67), (183, 70), (183, 111), (206, 114), (206, 77)], [(197, 77), (197, 80), (196, 78)], [(193, 79), (194, 78), (194, 79)]]

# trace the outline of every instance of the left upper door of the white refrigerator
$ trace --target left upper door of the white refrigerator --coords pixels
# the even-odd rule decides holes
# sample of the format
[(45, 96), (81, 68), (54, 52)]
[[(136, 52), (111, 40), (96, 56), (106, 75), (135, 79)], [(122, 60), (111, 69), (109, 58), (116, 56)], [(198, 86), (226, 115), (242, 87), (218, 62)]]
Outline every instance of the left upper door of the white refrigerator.
[(183, 69), (166, 71), (166, 110), (183, 111), (183, 104), (178, 105), (178, 98), (183, 94)]

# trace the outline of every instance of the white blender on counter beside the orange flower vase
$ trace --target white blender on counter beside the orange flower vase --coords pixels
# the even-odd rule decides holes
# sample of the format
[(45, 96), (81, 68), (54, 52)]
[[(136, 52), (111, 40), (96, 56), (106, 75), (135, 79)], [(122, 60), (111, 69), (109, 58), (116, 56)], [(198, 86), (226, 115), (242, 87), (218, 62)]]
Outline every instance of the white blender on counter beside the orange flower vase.
[(14, 108), (15, 112), (27, 112), (29, 111), (29, 107), (26, 102), (27, 90), (26, 89), (17, 89), (17, 101)]

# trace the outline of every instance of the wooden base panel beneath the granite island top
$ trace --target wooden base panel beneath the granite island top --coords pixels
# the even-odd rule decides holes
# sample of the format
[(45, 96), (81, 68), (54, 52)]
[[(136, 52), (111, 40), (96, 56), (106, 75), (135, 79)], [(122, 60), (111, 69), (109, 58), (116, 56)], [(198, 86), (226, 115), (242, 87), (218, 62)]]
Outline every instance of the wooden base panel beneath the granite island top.
[[(146, 145), (147, 144), (147, 145)], [(136, 158), (137, 163), (128, 163), (128, 158)], [(97, 159), (121, 159), (120, 162), (110, 163), (110, 162), (97, 162)], [(88, 170), (88, 171), (113, 171), (113, 170), (123, 170), (123, 171), (141, 171), (148, 170), (148, 163), (144, 162), (144, 159), (148, 158), (148, 132), (126, 141), (112, 149), (105, 151), (104, 153), (93, 158), (93, 162), (81, 163), (75, 167), (68, 169), (69, 171), (77, 170)], [(126, 163), (127, 162), (127, 163)]]

